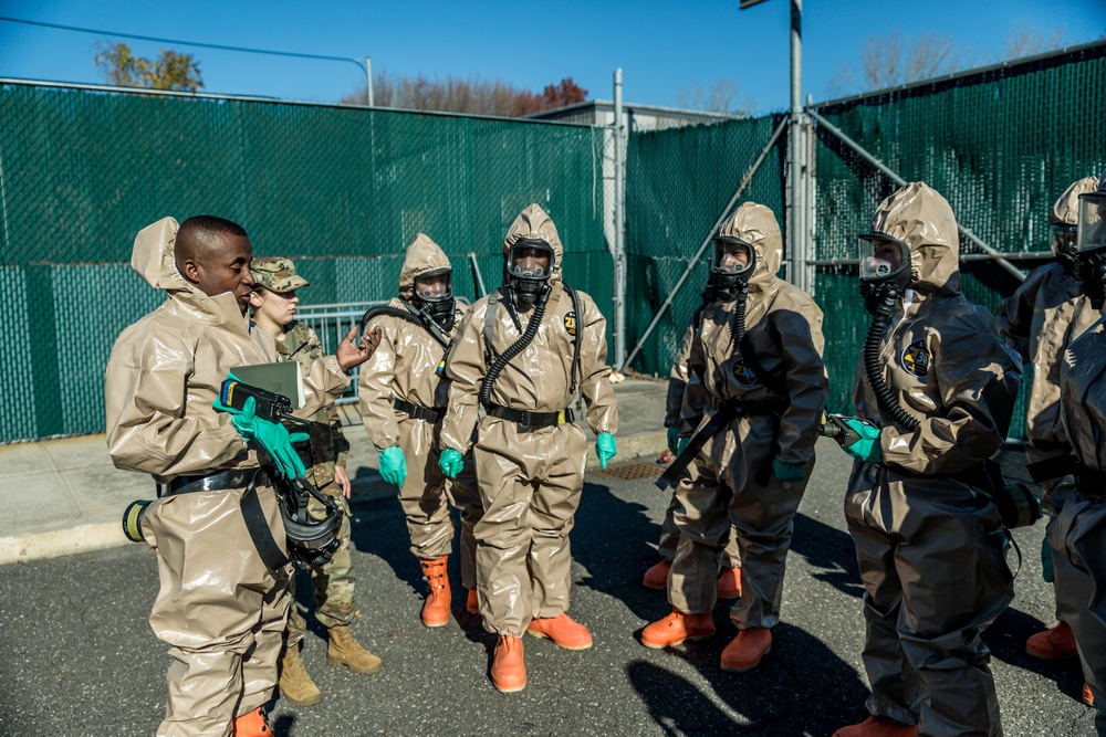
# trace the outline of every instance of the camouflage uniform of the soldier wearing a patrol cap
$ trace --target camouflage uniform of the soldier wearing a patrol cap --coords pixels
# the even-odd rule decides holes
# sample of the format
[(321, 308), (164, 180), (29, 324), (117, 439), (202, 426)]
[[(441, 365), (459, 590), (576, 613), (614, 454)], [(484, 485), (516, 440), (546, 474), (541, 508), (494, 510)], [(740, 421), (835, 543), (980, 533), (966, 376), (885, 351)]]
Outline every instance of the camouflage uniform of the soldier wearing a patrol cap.
[[(286, 259), (273, 259), (276, 262), (288, 262)], [(283, 264), (281, 264), (283, 266)], [(288, 262), (291, 267), (291, 262)], [(285, 267), (285, 269), (288, 269)], [(257, 269), (253, 269), (257, 274)], [(286, 271), (278, 273), (278, 276), (291, 278)], [(295, 276), (294, 270), (292, 276)], [(304, 375), (311, 371), (311, 366), (322, 358), (323, 344), (319, 336), (305, 323), (295, 323), (286, 326), (283, 339), (274, 341), (276, 354), (280, 360), (299, 361), (303, 367)], [(352, 572), (353, 562), (349, 557), (349, 540), (352, 529), (349, 526), (349, 503), (336, 483), (334, 483), (335, 466), (345, 467), (346, 457), (349, 454), (349, 443), (342, 432), (342, 421), (338, 418), (337, 409), (334, 404), (328, 404), (313, 415), (307, 418), (323, 427), (313, 428), (311, 440), (296, 445), (300, 460), (306, 466), (306, 477), (315, 485), (323, 495), (334, 499), (343, 510), (342, 523), (338, 527), (338, 549), (334, 556), (323, 566), (311, 569), (311, 585), (315, 596), (315, 618), (325, 628), (349, 624), (356, 611), (354, 602), (354, 576)], [(290, 430), (299, 430), (292, 428)], [(307, 499), (307, 513), (317, 519), (326, 516), (326, 507), (314, 497)], [(293, 573), (293, 578), (299, 572)], [(306, 633), (306, 622), (300, 614), (294, 602), (295, 586), (292, 587), (293, 602), (288, 619), (288, 642), (289, 646), (298, 644)]]

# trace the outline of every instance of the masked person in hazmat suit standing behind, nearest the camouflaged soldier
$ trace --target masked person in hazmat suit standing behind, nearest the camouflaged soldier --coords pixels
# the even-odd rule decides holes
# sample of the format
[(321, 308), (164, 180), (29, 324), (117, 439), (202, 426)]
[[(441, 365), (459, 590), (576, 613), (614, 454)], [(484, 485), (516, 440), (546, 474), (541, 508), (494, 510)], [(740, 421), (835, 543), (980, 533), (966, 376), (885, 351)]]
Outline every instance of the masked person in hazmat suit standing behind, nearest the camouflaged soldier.
[(482, 508), (471, 454), (457, 478), (446, 478), (438, 467), (439, 433), (449, 396), (441, 364), (468, 305), (453, 297), (449, 259), (422, 233), (407, 248), (399, 272), (399, 296), (389, 306), (399, 316), (384, 314), (368, 323), (380, 327), (382, 339), (361, 369), (357, 393), (365, 431), (380, 451), (380, 473), (399, 487), (410, 550), (430, 589), (419, 617), (422, 624), (436, 628), (449, 621), (450, 612), (446, 571), (453, 540), (450, 505), (461, 510), (466, 609), (477, 612), (472, 526)]

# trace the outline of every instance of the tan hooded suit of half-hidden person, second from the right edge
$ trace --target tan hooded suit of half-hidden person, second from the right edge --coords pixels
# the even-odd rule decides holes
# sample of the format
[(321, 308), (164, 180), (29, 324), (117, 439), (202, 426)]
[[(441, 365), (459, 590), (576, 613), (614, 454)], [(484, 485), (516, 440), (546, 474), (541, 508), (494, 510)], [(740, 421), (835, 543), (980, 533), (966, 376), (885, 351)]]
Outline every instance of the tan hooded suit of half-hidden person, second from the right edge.
[[(1078, 196), (1098, 188), (1097, 177), (1068, 187), (1052, 208), (1054, 224), (1075, 225)], [(1058, 263), (1033, 270), (1013, 295), (999, 307), (999, 329), (1023, 360), (1033, 361), (1033, 387), (1025, 413), (1030, 463), (1071, 452), (1060, 421), (1060, 366), (1067, 345), (1091, 327), (1099, 314), (1079, 296), (1079, 283)], [(1058, 480), (1042, 483), (1045, 505), (1058, 508), (1063, 494), (1055, 494)], [(1065, 485), (1065, 489), (1070, 485)]]

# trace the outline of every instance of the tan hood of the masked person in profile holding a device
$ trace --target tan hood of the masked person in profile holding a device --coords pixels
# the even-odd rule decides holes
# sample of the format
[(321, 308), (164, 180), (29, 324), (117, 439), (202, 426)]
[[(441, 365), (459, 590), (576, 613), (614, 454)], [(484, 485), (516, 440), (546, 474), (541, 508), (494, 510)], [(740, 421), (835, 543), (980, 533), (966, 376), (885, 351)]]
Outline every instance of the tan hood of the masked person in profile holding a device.
[(960, 235), (948, 200), (924, 182), (910, 182), (879, 203), (872, 230), (906, 243), (910, 286), (919, 292), (959, 294)]

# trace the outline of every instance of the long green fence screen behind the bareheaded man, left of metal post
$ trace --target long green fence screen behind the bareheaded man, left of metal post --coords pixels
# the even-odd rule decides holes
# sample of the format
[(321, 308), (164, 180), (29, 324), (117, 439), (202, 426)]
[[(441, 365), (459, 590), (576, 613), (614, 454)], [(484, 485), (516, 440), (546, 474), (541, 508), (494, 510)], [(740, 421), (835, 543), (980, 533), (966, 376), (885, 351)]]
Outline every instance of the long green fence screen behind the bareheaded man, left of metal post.
[(605, 310), (603, 130), (364, 108), (0, 86), (0, 442), (100, 432), (119, 331), (164, 295), (128, 265), (165, 215), (241, 223), (286, 255), (305, 304), (395, 294), (419, 231), (450, 254), (458, 294), (501, 278), (507, 228), (550, 211), (566, 280)]

